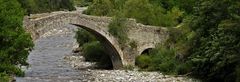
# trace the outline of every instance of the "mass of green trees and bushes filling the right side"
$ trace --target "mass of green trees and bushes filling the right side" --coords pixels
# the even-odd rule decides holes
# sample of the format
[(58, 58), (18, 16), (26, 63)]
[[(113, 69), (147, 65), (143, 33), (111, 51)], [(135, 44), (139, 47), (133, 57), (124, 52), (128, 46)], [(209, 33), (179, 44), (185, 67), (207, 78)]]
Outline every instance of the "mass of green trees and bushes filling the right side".
[[(108, 11), (101, 16), (116, 16), (121, 13), (122, 17), (135, 18), (147, 25), (177, 26), (169, 28), (170, 38), (165, 47), (137, 57), (136, 63), (140, 68), (160, 70), (167, 74), (191, 73), (204, 81), (239, 81), (239, 1), (111, 0), (110, 2), (114, 6), (106, 7)], [(116, 5), (115, 2), (121, 3)], [(88, 12), (93, 12), (92, 14), (95, 11), (88, 9)], [(113, 27), (121, 26), (118, 24), (120, 23)], [(116, 28), (112, 30), (118, 35)]]

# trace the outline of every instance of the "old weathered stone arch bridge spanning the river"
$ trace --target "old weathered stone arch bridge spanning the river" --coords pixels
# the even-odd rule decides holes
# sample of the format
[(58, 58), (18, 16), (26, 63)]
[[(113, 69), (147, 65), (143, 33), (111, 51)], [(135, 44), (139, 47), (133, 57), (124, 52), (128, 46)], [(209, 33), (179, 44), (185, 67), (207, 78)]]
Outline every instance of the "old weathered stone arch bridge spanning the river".
[[(127, 46), (121, 46), (118, 38), (108, 32), (108, 24), (111, 17), (89, 16), (74, 12), (61, 12), (53, 15), (30, 19), (24, 18), (24, 27), (34, 40), (54, 28), (65, 24), (76, 25), (94, 34), (105, 46), (113, 63), (114, 69), (121, 69), (123, 66), (134, 66), (135, 57), (145, 49), (154, 48), (157, 44), (168, 38), (168, 31), (162, 27), (148, 26), (136, 23), (134, 19), (127, 19), (126, 27)], [(135, 44), (131, 47), (130, 44)]]

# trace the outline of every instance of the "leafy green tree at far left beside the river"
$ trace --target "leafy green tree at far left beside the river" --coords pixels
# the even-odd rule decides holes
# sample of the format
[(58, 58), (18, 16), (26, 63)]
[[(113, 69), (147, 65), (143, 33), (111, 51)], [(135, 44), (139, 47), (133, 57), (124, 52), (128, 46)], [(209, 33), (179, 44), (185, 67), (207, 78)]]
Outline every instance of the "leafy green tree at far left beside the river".
[(0, 0), (0, 5), (0, 78), (7, 80), (9, 75), (24, 75), (16, 65), (28, 65), (33, 42), (22, 27), (24, 12), (18, 1)]

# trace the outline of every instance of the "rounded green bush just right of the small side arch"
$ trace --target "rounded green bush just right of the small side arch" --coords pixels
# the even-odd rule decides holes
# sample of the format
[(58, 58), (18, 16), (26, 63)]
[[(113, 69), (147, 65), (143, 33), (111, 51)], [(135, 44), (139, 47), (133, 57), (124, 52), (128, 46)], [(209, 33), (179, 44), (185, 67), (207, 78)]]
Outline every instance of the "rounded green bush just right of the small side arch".
[(173, 74), (178, 61), (175, 59), (175, 51), (173, 48), (160, 46), (151, 53), (152, 65), (149, 70), (161, 71), (165, 74)]

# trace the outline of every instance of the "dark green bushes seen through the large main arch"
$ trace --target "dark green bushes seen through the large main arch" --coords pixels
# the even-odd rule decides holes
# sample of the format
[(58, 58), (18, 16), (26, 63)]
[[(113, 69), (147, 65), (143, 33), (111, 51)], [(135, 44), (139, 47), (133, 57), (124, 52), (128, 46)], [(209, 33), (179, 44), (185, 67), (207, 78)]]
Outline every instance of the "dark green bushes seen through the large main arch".
[(96, 37), (84, 29), (78, 29), (75, 36), (79, 47), (82, 47), (83, 56), (86, 61), (96, 62), (97, 68), (112, 69), (112, 62), (104, 47)]

